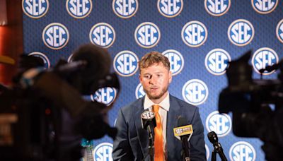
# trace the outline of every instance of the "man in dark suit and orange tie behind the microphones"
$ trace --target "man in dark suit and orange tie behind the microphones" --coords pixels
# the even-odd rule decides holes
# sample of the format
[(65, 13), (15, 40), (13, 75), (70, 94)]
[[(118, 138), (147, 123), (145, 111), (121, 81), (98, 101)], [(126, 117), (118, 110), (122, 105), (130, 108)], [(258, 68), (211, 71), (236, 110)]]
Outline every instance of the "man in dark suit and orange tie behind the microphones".
[(149, 133), (141, 127), (141, 113), (144, 110), (156, 114), (154, 128), (154, 160), (182, 160), (182, 143), (174, 137), (173, 128), (178, 118), (192, 124), (190, 138), (191, 160), (206, 160), (204, 128), (198, 108), (168, 93), (172, 81), (170, 63), (166, 56), (150, 52), (139, 61), (139, 81), (146, 95), (122, 107), (118, 113), (117, 136), (113, 144), (113, 160), (149, 160)]

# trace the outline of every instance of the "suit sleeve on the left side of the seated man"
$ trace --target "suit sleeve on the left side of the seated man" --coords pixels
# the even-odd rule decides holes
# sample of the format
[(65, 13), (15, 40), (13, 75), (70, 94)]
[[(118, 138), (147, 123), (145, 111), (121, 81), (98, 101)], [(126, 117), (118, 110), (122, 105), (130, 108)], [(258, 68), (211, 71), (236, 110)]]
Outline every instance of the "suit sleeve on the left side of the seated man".
[(134, 160), (132, 149), (129, 145), (128, 126), (121, 109), (118, 112), (116, 128), (118, 132), (113, 143), (113, 160)]

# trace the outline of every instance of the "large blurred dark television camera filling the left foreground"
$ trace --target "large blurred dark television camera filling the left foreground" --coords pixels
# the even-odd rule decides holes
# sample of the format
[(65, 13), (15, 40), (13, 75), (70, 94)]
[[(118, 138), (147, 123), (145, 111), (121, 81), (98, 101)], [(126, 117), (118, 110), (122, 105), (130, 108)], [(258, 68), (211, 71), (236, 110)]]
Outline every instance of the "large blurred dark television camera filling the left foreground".
[(13, 85), (0, 85), (0, 158), (3, 160), (80, 160), (81, 141), (115, 137), (107, 123), (111, 105), (89, 102), (99, 88), (120, 90), (110, 73), (110, 54), (84, 44), (54, 68), (42, 59), (21, 56)]

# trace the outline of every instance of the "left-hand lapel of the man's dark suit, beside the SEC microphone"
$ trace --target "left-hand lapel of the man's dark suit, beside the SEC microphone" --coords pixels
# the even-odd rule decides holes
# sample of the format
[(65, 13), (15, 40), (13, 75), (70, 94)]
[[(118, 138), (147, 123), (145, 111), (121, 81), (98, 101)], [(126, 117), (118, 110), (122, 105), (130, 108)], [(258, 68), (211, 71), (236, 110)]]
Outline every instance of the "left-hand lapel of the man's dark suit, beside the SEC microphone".
[(148, 146), (149, 146), (149, 134), (146, 130), (142, 129), (141, 126), (141, 113), (144, 111), (144, 97), (139, 100), (139, 102), (136, 104), (136, 107), (133, 108), (133, 110), (136, 110), (133, 112), (134, 114), (134, 125), (136, 127), (137, 131), (137, 137), (139, 138), (139, 146), (141, 148), (141, 151), (143, 155), (145, 156), (148, 152)]

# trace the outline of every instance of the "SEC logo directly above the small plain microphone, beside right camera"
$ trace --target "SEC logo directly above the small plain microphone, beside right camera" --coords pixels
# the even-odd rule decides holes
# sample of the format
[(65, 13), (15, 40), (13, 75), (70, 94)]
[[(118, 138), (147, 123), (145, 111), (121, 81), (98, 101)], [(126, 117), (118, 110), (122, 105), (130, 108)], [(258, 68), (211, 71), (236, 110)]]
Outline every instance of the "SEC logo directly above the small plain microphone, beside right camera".
[(207, 131), (214, 131), (217, 136), (226, 136), (232, 127), (231, 118), (228, 114), (219, 114), (218, 111), (212, 112), (208, 115), (205, 121)]

